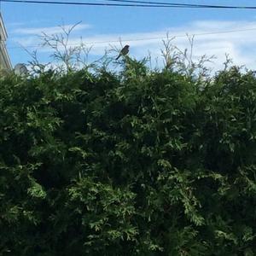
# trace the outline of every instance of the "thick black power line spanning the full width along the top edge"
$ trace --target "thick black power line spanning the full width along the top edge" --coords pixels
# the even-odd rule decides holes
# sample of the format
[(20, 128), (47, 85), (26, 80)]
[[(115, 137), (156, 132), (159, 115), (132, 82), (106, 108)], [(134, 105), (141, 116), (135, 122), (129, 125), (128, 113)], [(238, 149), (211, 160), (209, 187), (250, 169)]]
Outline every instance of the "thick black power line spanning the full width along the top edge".
[[(113, 1), (113, 0), (112, 0)], [(62, 4), (62, 5), (87, 5), (87, 6), (114, 6), (114, 7), (145, 7), (145, 8), (199, 8), (199, 9), (256, 9), (256, 6), (227, 6), (227, 5), (202, 5), (189, 3), (157, 3), (132, 0), (122, 0), (129, 3), (84, 3), (63, 1), (34, 1), (34, 0), (2, 0), (5, 3), (37, 3), (37, 4)], [(121, 2), (121, 1), (115, 1)], [(153, 4), (154, 3), (154, 4)]]

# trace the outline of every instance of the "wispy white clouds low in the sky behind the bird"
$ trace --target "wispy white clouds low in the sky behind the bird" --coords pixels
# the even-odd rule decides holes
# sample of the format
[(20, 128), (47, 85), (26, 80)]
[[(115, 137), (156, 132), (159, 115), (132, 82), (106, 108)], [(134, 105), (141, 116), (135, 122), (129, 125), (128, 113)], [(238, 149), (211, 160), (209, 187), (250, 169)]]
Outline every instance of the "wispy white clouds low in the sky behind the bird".
[[(256, 37), (253, 33), (256, 32), (256, 21), (246, 20), (196, 20), (185, 26), (173, 26), (155, 32), (136, 32), (122, 34), (96, 34), (86, 37), (86, 32), (83, 32), (88, 25), (80, 24), (75, 27), (80, 31), (80, 36), (83, 37), (84, 43), (88, 46), (93, 46), (90, 55), (103, 55), (105, 49), (110, 49), (110, 44), (120, 48), (119, 40), (122, 44), (131, 45), (131, 55), (137, 58), (143, 58), (150, 51), (152, 58), (160, 57), (160, 49), (163, 47), (162, 40), (166, 38), (166, 33), (169, 37), (176, 37), (173, 40), (180, 49), (189, 47), (186, 34), (195, 35), (194, 42), (194, 58), (200, 55), (215, 55), (216, 59), (212, 64), (215, 69), (221, 68), (225, 60), (225, 54), (229, 54), (237, 65), (246, 65), (249, 68), (256, 69)], [(38, 38), (30, 37), (30, 35), (46, 32), (53, 34), (60, 32), (60, 27), (54, 26), (50, 28), (26, 28), (16, 30), (16, 33), (26, 34), (27, 37), (16, 38), (20, 44), (26, 46), (37, 45)], [(17, 35), (19, 36), (19, 35)], [(80, 44), (81, 38), (71, 37), (70, 45)], [(49, 49), (39, 49), (42, 52)]]

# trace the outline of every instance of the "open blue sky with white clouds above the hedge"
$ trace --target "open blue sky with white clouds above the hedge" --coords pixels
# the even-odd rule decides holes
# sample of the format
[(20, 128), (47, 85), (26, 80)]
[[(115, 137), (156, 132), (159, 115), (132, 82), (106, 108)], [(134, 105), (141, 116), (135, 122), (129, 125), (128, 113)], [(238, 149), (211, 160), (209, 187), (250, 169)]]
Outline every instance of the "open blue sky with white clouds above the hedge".
[[(101, 3), (98, 0), (95, 2)], [(191, 2), (179, 1), (179, 3)], [(234, 0), (193, 1), (193, 3), (253, 4), (252, 1)], [(9, 34), (7, 46), (13, 65), (18, 62), (26, 63), (31, 59), (20, 45), (32, 51), (36, 49), (32, 46), (40, 44), (38, 35), (41, 32), (48, 34), (60, 32), (59, 25), (72, 26), (81, 21), (73, 32), (71, 44), (79, 44), (80, 37), (84, 42), (90, 42), (92, 59), (103, 55), (104, 50), (110, 48), (108, 43), (93, 44), (99, 41), (118, 41), (121, 38), (124, 44), (131, 45), (132, 56), (142, 58), (150, 51), (154, 58), (160, 58), (161, 40), (165, 38), (166, 32), (169, 32), (171, 37), (177, 36), (173, 44), (184, 49), (188, 46), (187, 38), (184, 36), (186, 33), (193, 35), (246, 30), (195, 36), (194, 57), (204, 54), (215, 55), (216, 59), (212, 65), (220, 67), (227, 53), (235, 63), (256, 68), (256, 9), (145, 9), (1, 3), (1, 12)], [(137, 38), (145, 40), (131, 40)], [(119, 47), (119, 43), (115, 45)], [(38, 48), (38, 55), (41, 61), (49, 61), (49, 50)]]

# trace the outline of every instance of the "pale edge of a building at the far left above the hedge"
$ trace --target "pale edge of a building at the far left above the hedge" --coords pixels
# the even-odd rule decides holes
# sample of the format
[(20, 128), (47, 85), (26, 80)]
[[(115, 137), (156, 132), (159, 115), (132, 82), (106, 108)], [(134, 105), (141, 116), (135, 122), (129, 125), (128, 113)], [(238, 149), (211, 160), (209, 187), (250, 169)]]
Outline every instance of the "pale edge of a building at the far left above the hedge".
[(0, 69), (11, 69), (11, 61), (5, 46), (5, 41), (7, 39), (7, 32), (3, 24), (3, 18), (0, 13)]

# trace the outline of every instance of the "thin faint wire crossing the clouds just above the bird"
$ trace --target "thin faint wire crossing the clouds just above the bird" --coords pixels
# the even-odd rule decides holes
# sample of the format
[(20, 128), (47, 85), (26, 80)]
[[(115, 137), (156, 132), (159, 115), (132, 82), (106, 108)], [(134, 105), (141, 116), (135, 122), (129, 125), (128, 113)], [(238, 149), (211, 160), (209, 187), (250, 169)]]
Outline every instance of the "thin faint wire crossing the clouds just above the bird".
[[(227, 31), (219, 31), (219, 32), (202, 32), (202, 33), (195, 33), (193, 36), (195, 37), (201, 37), (201, 36), (208, 36), (208, 35), (217, 35), (217, 34), (226, 34), (226, 33), (234, 33), (234, 32), (248, 32), (248, 31), (255, 31), (256, 27), (252, 28), (245, 28), (245, 29), (238, 29), (238, 30), (227, 30)], [(135, 38), (135, 39), (123, 39), (122, 42), (137, 42), (137, 41), (147, 41), (147, 40), (159, 40), (163, 39), (163, 37), (151, 37), (151, 38)], [(177, 36), (172, 36), (172, 38), (186, 38), (187, 35), (177, 35)], [(84, 45), (93, 45), (93, 44), (113, 44), (113, 43), (119, 43), (120, 40), (110, 40), (110, 41), (96, 41), (96, 42), (82, 42)], [(68, 44), (71, 46), (78, 46), (80, 44)], [(26, 48), (37, 48), (37, 47), (42, 47), (40, 45), (28, 45)], [(8, 49), (20, 49), (22, 48), (21, 46), (13, 46), (13, 47), (8, 47)]]

